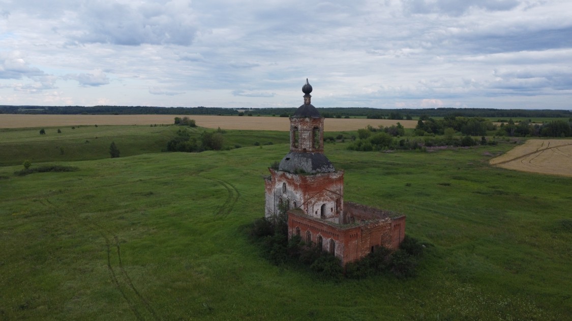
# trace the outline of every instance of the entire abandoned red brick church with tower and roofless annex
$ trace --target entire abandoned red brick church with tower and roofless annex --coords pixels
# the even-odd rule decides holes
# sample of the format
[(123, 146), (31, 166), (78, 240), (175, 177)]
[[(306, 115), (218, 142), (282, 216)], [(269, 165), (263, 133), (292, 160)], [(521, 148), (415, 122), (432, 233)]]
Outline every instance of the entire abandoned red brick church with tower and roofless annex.
[(405, 237), (405, 216), (344, 202), (344, 172), (324, 155), (324, 117), (310, 103), (312, 86), (302, 87), (304, 104), (290, 117), (290, 152), (265, 178), (265, 217), (288, 211), (288, 234), (334, 253), (343, 265), (378, 246), (397, 249)]

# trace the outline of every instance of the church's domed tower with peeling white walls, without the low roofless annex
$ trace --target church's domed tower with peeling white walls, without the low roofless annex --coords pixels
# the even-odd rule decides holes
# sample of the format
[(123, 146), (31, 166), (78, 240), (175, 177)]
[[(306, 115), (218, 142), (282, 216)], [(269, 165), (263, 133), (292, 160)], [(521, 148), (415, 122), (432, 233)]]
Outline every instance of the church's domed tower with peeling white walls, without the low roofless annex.
[(324, 155), (324, 117), (311, 104), (312, 86), (302, 87), (304, 104), (290, 117), (290, 151), (266, 178), (265, 216), (280, 208), (300, 209), (309, 217), (339, 222), (343, 213), (344, 172)]

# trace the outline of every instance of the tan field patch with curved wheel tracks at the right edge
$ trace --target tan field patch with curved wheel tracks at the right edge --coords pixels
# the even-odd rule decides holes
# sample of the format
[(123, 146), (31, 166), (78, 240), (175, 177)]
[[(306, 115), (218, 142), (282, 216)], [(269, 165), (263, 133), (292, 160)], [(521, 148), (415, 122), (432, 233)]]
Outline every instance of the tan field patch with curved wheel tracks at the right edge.
[(572, 177), (572, 140), (531, 139), (490, 160), (506, 169)]

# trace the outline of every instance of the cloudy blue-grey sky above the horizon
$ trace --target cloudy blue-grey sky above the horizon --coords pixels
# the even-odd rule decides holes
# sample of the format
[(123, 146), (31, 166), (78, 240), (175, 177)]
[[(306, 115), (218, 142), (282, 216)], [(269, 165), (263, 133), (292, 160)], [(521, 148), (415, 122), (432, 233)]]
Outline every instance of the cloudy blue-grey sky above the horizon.
[(0, 104), (572, 109), (570, 0), (0, 0)]

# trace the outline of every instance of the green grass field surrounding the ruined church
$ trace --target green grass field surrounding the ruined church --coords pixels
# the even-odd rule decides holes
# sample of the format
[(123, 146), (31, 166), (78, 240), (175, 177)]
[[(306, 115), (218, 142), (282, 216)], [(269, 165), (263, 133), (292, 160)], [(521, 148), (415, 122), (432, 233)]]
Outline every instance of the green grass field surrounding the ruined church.
[[(345, 170), (345, 200), (406, 214), (407, 234), (427, 246), (414, 278), (333, 283), (273, 266), (245, 235), (263, 216), (261, 177), (288, 152), (288, 133), (228, 131), (225, 145), (242, 148), (160, 153), (176, 127), (61, 130), (73, 135), (0, 132), (0, 320), (572, 315), (572, 180), (488, 166), (512, 144), (395, 153), (325, 144)], [(108, 158), (111, 141), (122, 157)], [(15, 176), (26, 157), (80, 170)]]

